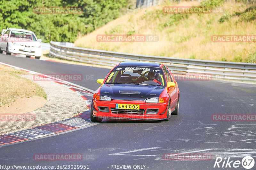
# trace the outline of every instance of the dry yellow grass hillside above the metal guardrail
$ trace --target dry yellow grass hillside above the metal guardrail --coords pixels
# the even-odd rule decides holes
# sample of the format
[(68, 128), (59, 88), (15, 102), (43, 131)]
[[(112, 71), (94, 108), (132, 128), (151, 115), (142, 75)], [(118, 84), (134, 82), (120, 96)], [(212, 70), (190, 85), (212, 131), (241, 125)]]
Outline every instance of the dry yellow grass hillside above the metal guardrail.
[[(171, 2), (143, 10), (135, 10), (121, 18), (109, 22), (94, 32), (79, 37), (75, 44), (78, 47), (117, 51), (124, 53), (169, 56), (176, 58), (191, 58), (200, 60), (242, 61), (250, 53), (255, 52), (255, 43), (245, 42), (212, 42), (212, 35), (254, 35), (256, 22), (240, 21), (239, 17), (218, 23), (224, 15), (219, 14), (190, 14), (181, 19), (178, 24), (163, 26), (170, 15), (163, 15), (163, 6), (197, 6), (197, 1)], [(242, 12), (247, 5), (228, 2), (223, 4), (229, 15)], [(98, 34), (156, 34), (158, 42), (97, 42)], [(237, 60), (238, 59), (238, 60)]]

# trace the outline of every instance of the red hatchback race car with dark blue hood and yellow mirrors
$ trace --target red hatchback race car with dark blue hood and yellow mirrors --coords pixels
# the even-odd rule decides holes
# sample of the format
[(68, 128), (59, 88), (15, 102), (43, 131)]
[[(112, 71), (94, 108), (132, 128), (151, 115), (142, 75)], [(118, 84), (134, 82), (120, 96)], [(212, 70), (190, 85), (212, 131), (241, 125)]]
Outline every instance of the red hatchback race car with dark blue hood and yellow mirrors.
[(179, 113), (180, 90), (163, 64), (121, 62), (93, 94), (91, 121), (103, 118), (129, 120), (170, 120)]

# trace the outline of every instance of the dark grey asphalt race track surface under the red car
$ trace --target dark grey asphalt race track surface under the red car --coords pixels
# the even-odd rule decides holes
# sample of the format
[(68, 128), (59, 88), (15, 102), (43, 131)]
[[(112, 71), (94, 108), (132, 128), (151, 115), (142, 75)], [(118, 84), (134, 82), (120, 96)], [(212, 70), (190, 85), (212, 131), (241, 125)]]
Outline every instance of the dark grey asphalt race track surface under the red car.
[[(83, 81), (73, 83), (92, 90), (99, 87), (96, 80), (105, 78), (110, 70), (3, 54), (0, 54), (0, 62), (43, 74), (83, 74)], [(234, 162), (250, 155), (256, 162), (255, 121), (211, 119), (212, 114), (255, 114), (256, 85), (225, 81), (178, 81), (178, 84), (180, 112), (172, 115), (169, 122), (103, 119), (93, 126), (2, 145), (0, 165), (88, 165), (93, 170), (114, 169), (113, 165), (132, 165), (131, 169), (135, 169), (134, 165), (144, 165), (150, 170), (197, 170), (245, 169), (242, 165), (213, 168), (216, 157), (230, 157)], [(183, 152), (208, 153), (212, 159), (163, 160), (164, 153)], [(81, 153), (83, 160), (35, 161), (36, 153)]]

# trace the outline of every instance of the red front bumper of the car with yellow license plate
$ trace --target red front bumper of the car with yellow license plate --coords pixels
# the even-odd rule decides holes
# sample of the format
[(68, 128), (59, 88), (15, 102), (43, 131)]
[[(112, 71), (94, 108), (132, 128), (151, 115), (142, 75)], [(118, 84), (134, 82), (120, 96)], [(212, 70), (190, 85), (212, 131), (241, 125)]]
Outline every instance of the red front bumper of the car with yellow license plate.
[[(139, 104), (140, 114), (130, 113), (130, 110), (122, 110), (124, 114), (114, 114), (113, 111), (118, 104)], [(106, 107), (109, 112), (100, 111), (100, 107)], [(167, 118), (168, 103), (146, 103), (145, 101), (127, 101), (127, 100), (112, 100), (112, 101), (99, 101), (93, 100), (93, 117), (109, 118), (109, 119), (129, 119), (129, 120), (163, 120)], [(111, 109), (112, 108), (112, 109)], [(148, 109), (148, 110), (147, 110)], [(157, 113), (150, 113), (149, 109), (158, 109)], [(144, 111), (145, 110), (145, 111)], [(116, 110), (115, 110), (116, 111)], [(133, 112), (134, 110), (131, 110)], [(143, 113), (144, 111), (144, 113)]]

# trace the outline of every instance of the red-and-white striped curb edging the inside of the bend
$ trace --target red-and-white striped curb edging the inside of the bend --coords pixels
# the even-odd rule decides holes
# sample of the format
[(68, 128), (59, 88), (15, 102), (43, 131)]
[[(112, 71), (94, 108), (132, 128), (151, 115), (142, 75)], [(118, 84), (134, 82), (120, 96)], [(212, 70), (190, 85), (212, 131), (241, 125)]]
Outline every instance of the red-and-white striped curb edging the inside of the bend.
[[(29, 70), (11, 66), (11, 65), (6, 65), (3, 63), (0, 63), (0, 64), (8, 67), (13, 67), (19, 70), (23, 70), (31, 74), (35, 74), (35, 72), (33, 71), (29, 71)], [(76, 87), (74, 85), (69, 85), (61, 81), (54, 81), (54, 82), (59, 83), (75, 91), (79, 96), (81, 96), (86, 102), (87, 110), (85, 110), (84, 112), (74, 117), (61, 120), (59, 122), (44, 124), (44, 125), (36, 126), (33, 128), (22, 130), (22, 131), (0, 135), (0, 145), (11, 144), (11, 143), (20, 142), (28, 139), (33, 139), (33, 138), (39, 138), (46, 135), (52, 135), (55, 133), (76, 129), (78, 127), (86, 126), (92, 123), (90, 120), (92, 92), (85, 91), (83, 89), (80, 89), (79, 87)]]

